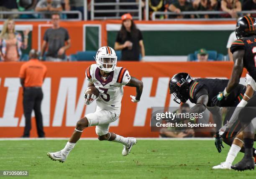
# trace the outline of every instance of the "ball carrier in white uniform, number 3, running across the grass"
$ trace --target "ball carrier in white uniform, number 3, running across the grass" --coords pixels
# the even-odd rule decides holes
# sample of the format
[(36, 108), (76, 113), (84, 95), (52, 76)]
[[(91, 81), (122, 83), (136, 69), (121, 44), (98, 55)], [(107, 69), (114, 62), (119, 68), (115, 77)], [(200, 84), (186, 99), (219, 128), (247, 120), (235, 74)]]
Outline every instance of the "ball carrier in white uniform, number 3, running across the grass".
[(88, 87), (95, 86), (100, 94), (96, 99), (95, 95), (85, 95), (85, 104), (90, 105), (95, 99), (97, 108), (95, 113), (87, 114), (77, 121), (74, 133), (66, 146), (58, 152), (47, 155), (60, 162), (67, 159), (69, 152), (82, 135), (85, 128), (96, 125), (96, 133), (100, 141), (113, 141), (123, 144), (123, 156), (130, 153), (131, 148), (136, 144), (136, 138), (125, 138), (115, 133), (108, 132), (110, 123), (118, 119), (121, 110), (121, 100), (123, 97), (123, 85), (136, 87), (136, 96), (131, 95), (132, 102), (139, 102), (143, 90), (143, 82), (131, 77), (128, 70), (116, 66), (117, 56), (114, 49), (108, 46), (101, 47), (95, 57), (96, 64), (92, 64), (86, 69), (86, 79), (89, 81)]

